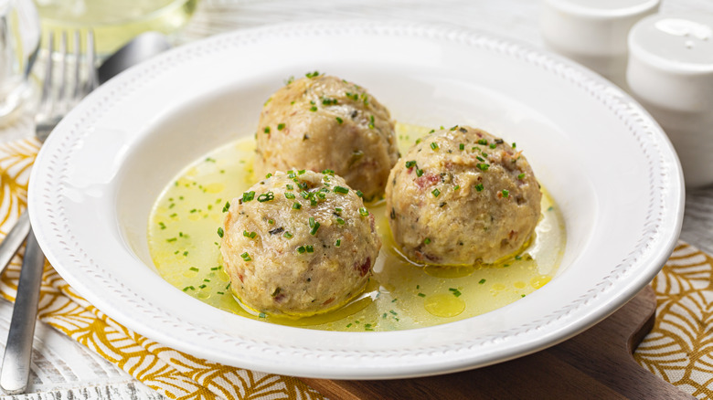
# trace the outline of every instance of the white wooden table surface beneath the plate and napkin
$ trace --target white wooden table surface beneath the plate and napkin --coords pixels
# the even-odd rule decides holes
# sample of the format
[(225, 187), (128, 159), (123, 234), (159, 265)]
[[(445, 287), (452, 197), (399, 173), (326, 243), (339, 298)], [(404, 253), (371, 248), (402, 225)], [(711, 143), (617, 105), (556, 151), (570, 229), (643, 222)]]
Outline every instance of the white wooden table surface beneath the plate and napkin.
[[(541, 46), (536, 0), (202, 0), (186, 29), (176, 36), (184, 43), (250, 26), (305, 19), (408, 19), (469, 26)], [(702, 10), (713, 13), (710, 0), (662, 2), (661, 11)], [(32, 135), (32, 115), (0, 129), (0, 141)], [(713, 254), (713, 187), (686, 194), (681, 238)], [(6, 337), (12, 304), (0, 300), (0, 337)], [(0, 343), (0, 350), (3, 344)], [(36, 399), (159, 399), (164, 398), (129, 374), (71, 339), (37, 324), (31, 393)], [(612, 372), (613, 374), (614, 372)]]

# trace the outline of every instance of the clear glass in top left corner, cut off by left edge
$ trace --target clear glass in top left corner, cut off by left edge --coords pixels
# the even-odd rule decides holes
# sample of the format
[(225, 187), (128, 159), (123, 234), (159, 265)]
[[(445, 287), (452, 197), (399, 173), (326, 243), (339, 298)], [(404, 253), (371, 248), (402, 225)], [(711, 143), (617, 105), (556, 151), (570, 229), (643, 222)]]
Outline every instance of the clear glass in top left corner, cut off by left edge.
[(32, 0), (0, 0), (0, 125), (12, 121), (32, 97), (29, 74), (39, 35)]

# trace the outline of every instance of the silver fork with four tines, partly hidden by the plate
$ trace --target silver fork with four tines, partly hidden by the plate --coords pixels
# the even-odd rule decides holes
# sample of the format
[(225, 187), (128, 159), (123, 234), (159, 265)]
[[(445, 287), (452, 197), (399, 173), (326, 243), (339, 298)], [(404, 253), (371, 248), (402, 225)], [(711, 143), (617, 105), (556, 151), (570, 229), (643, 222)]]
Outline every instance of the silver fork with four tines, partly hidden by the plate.
[[(98, 86), (95, 68), (94, 37), (90, 31), (87, 35), (87, 55), (86, 65), (89, 72), (86, 79), (82, 79), (80, 68), (83, 63), (80, 60), (80, 32), (74, 33), (74, 69), (73, 77), (68, 77), (69, 54), (67, 47), (67, 33), (62, 32), (59, 43), (60, 63), (57, 71), (54, 68), (52, 55), (54, 53), (54, 35), (50, 32), (48, 43), (48, 61), (45, 67), (45, 77), (42, 84), (42, 95), (37, 107), (36, 131), (37, 138), (44, 142), (49, 132), (57, 126), (62, 117), (74, 107), (87, 93)], [(59, 74), (59, 84), (55, 85), (55, 74)], [(72, 87), (69, 87), (69, 84)], [(55, 87), (57, 90), (55, 91)], [(42, 281), (42, 272), (45, 266), (45, 255), (37, 244), (37, 239), (32, 233), (27, 217), (27, 210), (17, 221), (16, 226), (8, 233), (0, 247), (5, 247), (7, 238), (11, 238), (6, 247), (15, 246), (17, 241), (22, 243), (22, 239), (27, 237), (27, 247), (25, 257), (20, 270), (20, 279), (17, 285), (17, 295), (15, 308), (13, 309), (12, 320), (10, 321), (10, 331), (7, 334), (5, 343), (5, 355), (3, 357), (2, 370), (0, 370), (0, 386), (5, 393), (16, 395), (27, 390), (27, 380), (29, 378), (30, 363), (32, 356), (32, 341), (35, 334), (35, 321), (37, 320), (37, 302), (39, 300), (39, 289)], [(19, 237), (19, 239), (18, 239)], [(17, 245), (16, 247), (19, 247)], [(15, 254), (16, 247), (0, 267), (5, 267)], [(2, 252), (2, 248), (0, 248)]]

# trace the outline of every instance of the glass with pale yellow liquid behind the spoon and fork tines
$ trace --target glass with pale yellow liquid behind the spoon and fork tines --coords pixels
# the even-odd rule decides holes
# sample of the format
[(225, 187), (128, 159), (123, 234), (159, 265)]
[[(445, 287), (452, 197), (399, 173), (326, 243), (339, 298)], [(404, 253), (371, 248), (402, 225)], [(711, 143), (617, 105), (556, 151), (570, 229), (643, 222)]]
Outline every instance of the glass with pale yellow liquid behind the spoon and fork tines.
[(43, 31), (92, 29), (101, 58), (146, 31), (175, 33), (196, 11), (197, 0), (35, 0), (35, 4)]

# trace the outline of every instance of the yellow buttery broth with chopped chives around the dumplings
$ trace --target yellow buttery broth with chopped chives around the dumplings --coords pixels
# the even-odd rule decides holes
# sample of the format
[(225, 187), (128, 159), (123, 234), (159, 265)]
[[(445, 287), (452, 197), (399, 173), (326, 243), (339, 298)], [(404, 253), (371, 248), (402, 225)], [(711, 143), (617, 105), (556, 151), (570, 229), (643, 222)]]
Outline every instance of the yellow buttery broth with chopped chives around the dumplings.
[[(398, 124), (405, 153), (428, 129)], [(161, 276), (186, 294), (247, 318), (328, 331), (397, 331), (438, 325), (493, 311), (546, 285), (565, 245), (561, 214), (544, 192), (535, 238), (496, 265), (423, 267), (399, 254), (384, 202), (367, 205), (383, 246), (367, 289), (345, 307), (296, 320), (258, 314), (233, 298), (220, 256), (218, 227), (226, 202), (253, 184), (252, 138), (218, 148), (165, 187), (149, 218), (149, 249)]]

